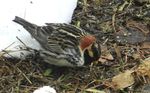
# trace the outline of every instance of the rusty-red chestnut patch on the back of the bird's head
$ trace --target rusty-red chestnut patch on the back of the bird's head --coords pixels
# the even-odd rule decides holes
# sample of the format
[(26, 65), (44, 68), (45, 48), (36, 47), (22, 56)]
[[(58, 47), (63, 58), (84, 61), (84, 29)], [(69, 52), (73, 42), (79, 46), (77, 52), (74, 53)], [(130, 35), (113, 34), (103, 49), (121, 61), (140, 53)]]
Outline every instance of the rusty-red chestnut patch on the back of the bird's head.
[(96, 41), (96, 38), (92, 35), (83, 36), (81, 38), (80, 47), (82, 50), (84, 50), (86, 47), (88, 47), (95, 41)]

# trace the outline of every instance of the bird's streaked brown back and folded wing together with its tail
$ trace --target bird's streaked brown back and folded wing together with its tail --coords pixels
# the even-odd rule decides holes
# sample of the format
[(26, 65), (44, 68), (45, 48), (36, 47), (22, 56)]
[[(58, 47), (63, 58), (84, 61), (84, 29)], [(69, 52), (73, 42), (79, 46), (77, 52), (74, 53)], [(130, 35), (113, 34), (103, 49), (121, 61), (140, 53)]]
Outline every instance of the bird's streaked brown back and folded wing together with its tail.
[(46, 24), (46, 26), (37, 26), (17, 16), (13, 21), (22, 25), (44, 49), (52, 53), (58, 55), (68, 51), (75, 55), (80, 53), (79, 39), (85, 34), (84, 30), (69, 24), (52, 23)]

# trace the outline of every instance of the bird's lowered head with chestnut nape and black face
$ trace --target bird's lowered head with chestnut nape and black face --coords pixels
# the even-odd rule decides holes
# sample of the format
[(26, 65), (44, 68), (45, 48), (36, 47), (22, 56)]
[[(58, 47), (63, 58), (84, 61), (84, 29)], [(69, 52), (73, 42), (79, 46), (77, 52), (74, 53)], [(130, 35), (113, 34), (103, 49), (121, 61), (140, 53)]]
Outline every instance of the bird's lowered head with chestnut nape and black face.
[(84, 60), (84, 65), (91, 64), (100, 58), (100, 44), (96, 40), (95, 36), (82, 36), (80, 40), (80, 49), (83, 54), (82, 57)]

